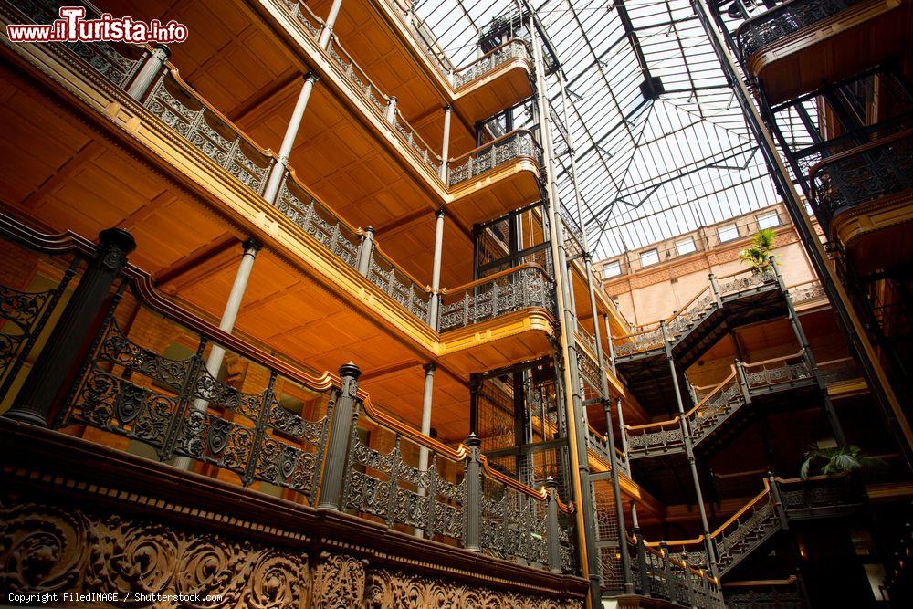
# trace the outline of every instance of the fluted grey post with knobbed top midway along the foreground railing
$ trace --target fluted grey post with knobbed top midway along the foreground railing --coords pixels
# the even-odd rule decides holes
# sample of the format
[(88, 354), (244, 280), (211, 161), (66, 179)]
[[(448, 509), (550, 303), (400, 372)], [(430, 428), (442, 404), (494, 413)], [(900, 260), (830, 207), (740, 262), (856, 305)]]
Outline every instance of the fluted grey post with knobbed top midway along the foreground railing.
[(354, 414), (355, 399), (358, 397), (358, 377), (362, 371), (353, 362), (349, 362), (340, 366), (339, 373), (341, 385), (336, 404), (333, 404), (330, 436), (327, 437), (326, 453), (323, 456), (318, 508), (342, 509), (342, 481), (346, 474), (352, 425), (357, 418)]

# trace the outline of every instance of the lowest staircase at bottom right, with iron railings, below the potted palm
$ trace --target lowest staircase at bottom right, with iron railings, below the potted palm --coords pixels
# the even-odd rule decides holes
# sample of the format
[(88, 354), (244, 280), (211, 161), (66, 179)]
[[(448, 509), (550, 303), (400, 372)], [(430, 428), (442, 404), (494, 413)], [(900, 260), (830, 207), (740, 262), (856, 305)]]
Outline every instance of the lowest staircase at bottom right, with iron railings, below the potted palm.
[[(846, 476), (764, 478), (764, 489), (710, 534), (720, 576), (731, 571), (778, 531), (801, 520), (844, 516), (861, 506), (861, 493)], [(682, 541), (646, 542), (673, 558), (708, 568), (704, 536)]]

